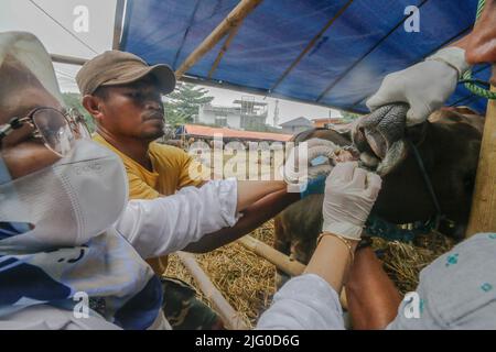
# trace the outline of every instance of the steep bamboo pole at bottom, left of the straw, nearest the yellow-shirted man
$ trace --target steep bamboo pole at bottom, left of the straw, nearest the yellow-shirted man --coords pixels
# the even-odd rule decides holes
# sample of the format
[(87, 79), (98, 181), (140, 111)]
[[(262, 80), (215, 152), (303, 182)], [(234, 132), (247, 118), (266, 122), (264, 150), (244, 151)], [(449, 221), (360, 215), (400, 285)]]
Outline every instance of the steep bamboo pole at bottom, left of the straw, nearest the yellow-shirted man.
[(248, 327), (242, 322), (238, 312), (228, 304), (220, 292), (209, 280), (205, 272), (200, 267), (198, 263), (196, 263), (194, 255), (177, 252), (177, 256), (194, 277), (202, 293), (212, 302), (226, 327), (231, 330), (248, 330)]

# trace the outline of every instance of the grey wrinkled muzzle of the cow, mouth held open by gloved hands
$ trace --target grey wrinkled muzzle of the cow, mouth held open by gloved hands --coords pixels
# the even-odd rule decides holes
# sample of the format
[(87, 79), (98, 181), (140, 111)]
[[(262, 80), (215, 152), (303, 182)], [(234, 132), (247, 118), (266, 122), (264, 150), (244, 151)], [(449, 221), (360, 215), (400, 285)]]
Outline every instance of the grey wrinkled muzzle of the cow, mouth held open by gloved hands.
[(380, 176), (391, 173), (407, 157), (403, 138), (408, 108), (405, 103), (384, 106), (352, 128), (360, 162)]

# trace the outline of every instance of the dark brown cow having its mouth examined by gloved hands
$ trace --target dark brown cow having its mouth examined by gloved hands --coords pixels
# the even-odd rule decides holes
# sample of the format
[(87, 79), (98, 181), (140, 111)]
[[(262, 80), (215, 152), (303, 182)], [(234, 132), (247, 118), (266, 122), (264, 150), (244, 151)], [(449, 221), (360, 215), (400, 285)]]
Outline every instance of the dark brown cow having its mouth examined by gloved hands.
[[(406, 107), (400, 109), (399, 113), (406, 112)], [(438, 201), (442, 216), (450, 220), (446, 223), (455, 224), (445, 230), (446, 234), (460, 239), (468, 221), (483, 118), (467, 108), (442, 109), (428, 122), (405, 129), (405, 124), (375, 119), (387, 113), (393, 116), (386, 108), (359, 119), (349, 131), (312, 129), (294, 135), (292, 141), (298, 144), (319, 138), (339, 146), (356, 146), (360, 164), (382, 176), (382, 189), (371, 213), (395, 224), (427, 221), (436, 215)], [(413, 147), (436, 200), (429, 191)], [(274, 218), (276, 250), (308, 264), (322, 229), (323, 197), (309, 196)]]

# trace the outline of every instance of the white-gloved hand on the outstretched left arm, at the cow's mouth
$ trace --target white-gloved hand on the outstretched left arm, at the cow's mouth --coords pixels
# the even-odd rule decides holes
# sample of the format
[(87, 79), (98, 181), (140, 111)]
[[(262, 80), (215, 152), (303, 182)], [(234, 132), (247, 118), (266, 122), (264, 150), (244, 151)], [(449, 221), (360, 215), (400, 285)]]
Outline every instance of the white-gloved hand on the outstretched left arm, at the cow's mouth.
[[(281, 174), (288, 185), (301, 185), (319, 175), (332, 170), (330, 163), (313, 166), (312, 161), (319, 156), (333, 157), (338, 146), (331, 141), (311, 139), (293, 147), (281, 167)], [(302, 166), (302, 167), (299, 167)]]

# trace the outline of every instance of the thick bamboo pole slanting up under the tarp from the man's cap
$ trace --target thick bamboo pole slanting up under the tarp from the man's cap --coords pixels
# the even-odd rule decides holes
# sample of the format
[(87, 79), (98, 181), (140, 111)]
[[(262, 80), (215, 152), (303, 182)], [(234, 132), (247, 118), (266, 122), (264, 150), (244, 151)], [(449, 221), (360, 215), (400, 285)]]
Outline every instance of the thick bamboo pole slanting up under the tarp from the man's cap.
[(211, 51), (229, 31), (260, 4), (262, 0), (241, 0), (236, 8), (220, 22), (219, 25), (187, 56), (184, 63), (175, 72), (175, 77), (181, 78), (194, 64), (196, 64), (208, 51)]

